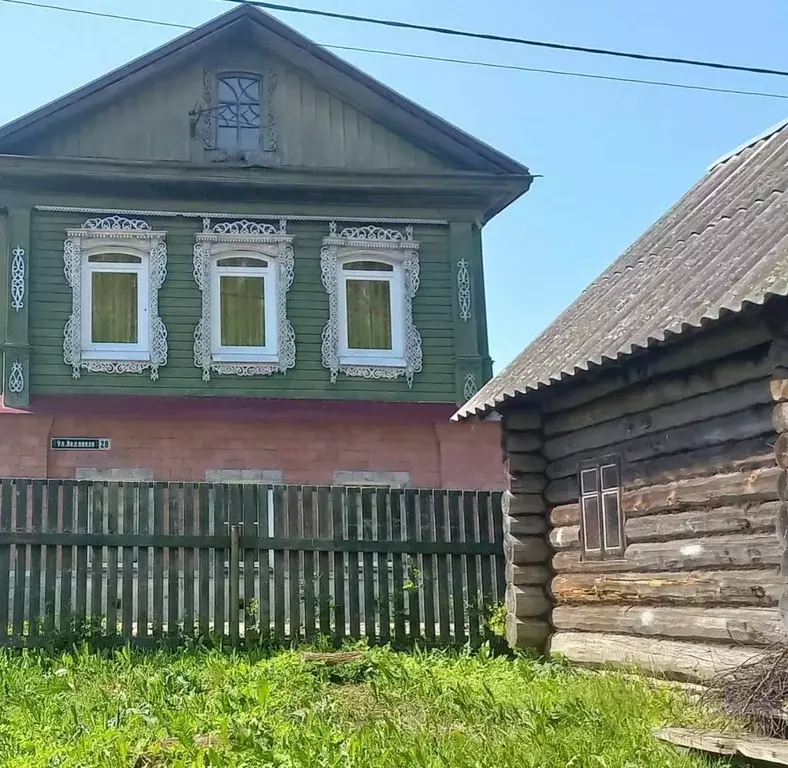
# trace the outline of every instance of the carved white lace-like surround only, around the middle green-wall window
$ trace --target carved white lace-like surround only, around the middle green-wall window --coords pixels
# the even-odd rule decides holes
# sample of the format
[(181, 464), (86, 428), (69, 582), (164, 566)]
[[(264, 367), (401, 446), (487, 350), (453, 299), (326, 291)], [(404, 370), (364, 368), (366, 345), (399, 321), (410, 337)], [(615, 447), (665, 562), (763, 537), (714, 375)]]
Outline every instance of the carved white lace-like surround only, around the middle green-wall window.
[[(217, 359), (212, 342), (214, 301), (213, 270), (216, 261), (229, 256), (249, 255), (273, 262), (269, 274), (274, 276), (276, 297), (276, 352), (272, 357), (250, 354), (248, 358), (234, 355), (233, 360)], [(287, 293), (293, 284), (295, 257), (293, 237), (287, 234), (287, 222), (278, 226), (265, 222), (203, 221), (203, 231), (195, 236), (194, 280), (202, 293), (202, 314), (194, 330), (194, 364), (202, 369), (203, 381), (211, 380), (211, 372), (230, 376), (269, 376), (287, 373), (295, 366), (295, 331), (287, 317)]]

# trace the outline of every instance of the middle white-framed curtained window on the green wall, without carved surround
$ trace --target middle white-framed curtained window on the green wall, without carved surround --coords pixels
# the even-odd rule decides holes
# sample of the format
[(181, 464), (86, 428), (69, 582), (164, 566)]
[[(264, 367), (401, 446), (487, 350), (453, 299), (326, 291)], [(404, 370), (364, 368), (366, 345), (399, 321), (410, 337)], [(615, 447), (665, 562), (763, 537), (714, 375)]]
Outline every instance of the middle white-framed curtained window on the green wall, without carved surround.
[(272, 262), (254, 256), (219, 258), (213, 265), (217, 360), (260, 360), (276, 356), (276, 273)]

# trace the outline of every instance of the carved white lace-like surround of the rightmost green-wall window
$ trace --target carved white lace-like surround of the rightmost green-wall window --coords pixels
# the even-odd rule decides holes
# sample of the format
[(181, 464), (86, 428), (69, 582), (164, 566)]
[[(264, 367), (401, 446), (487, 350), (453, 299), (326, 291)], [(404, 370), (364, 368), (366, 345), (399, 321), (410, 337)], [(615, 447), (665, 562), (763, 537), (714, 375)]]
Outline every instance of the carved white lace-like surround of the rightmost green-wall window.
[[(392, 322), (400, 318), (403, 355), (399, 359), (376, 360), (364, 363), (342, 354), (342, 325), (346, 309), (342, 303), (340, 270), (344, 262), (379, 260), (396, 265), (401, 281), (402, 307), (394, 311)], [(415, 374), (422, 369), (421, 335), (413, 323), (413, 298), (419, 289), (419, 243), (413, 239), (413, 227), (404, 234), (396, 229), (374, 225), (345, 227), (337, 233), (336, 222), (331, 222), (328, 237), (323, 239), (320, 252), (320, 272), (323, 287), (328, 293), (328, 322), (323, 328), (323, 365), (331, 371), (331, 383), (339, 373), (365, 379), (396, 379), (404, 376), (408, 386), (413, 386)], [(392, 294), (393, 296), (394, 294)]]

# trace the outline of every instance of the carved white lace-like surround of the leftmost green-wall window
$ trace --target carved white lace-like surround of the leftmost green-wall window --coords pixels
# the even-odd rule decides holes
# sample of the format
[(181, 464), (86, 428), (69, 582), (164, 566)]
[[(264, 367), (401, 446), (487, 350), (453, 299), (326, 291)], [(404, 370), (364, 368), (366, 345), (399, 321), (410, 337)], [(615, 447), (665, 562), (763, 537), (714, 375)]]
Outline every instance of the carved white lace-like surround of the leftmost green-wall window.
[[(66, 322), (63, 360), (71, 366), (75, 379), (83, 370), (92, 373), (142, 373), (149, 370), (152, 381), (159, 378), (159, 368), (167, 364), (167, 329), (159, 316), (159, 290), (167, 276), (167, 233), (152, 230), (141, 219), (121, 216), (88, 219), (77, 229), (66, 230), (63, 262), (66, 280), (71, 287), (71, 315)], [(114, 354), (112, 350), (86, 349), (86, 324), (89, 312), (83, 313), (88, 259), (92, 255), (125, 253), (142, 260), (140, 291), (147, 293), (147, 345), (131, 355)], [(140, 318), (142, 321), (142, 318)], [(143, 335), (144, 337), (144, 335)]]

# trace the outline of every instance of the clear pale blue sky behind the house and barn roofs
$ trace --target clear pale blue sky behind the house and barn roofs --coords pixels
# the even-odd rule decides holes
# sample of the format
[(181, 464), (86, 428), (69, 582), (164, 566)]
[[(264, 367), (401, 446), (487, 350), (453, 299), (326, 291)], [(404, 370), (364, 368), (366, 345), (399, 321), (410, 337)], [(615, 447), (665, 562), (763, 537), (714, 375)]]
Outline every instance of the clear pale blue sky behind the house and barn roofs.
[[(222, 0), (60, 0), (198, 25)], [(293, 0), (305, 7), (557, 42), (788, 69), (785, 0)], [(277, 14), (320, 43), (788, 95), (788, 78), (608, 60)], [(0, 123), (166, 42), (177, 30), (0, 2)], [(500, 370), (720, 155), (788, 116), (788, 100), (341, 54), (541, 174), (485, 228)]]

